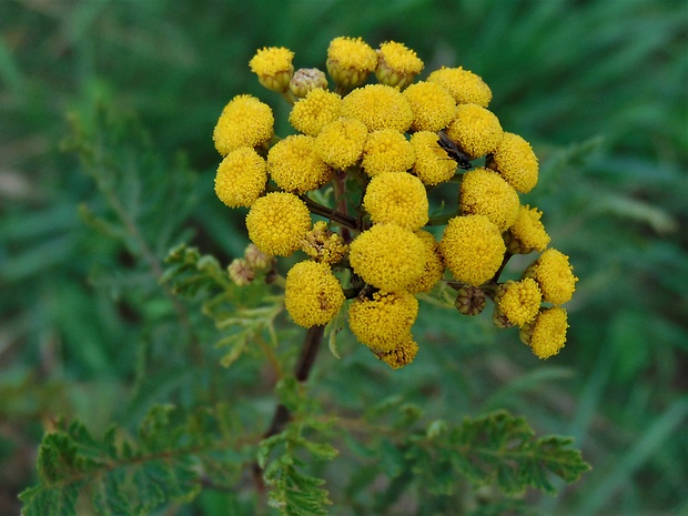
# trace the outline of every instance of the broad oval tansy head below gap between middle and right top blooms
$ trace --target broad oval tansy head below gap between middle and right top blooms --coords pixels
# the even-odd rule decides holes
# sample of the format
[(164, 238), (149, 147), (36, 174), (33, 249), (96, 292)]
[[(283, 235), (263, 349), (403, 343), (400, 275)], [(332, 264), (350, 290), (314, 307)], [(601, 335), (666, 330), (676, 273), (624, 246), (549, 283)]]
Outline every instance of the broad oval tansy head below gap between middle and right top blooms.
[(406, 98), (395, 88), (368, 84), (357, 88), (342, 99), (342, 114), (361, 120), (368, 131), (394, 129), (404, 132), (413, 122)]

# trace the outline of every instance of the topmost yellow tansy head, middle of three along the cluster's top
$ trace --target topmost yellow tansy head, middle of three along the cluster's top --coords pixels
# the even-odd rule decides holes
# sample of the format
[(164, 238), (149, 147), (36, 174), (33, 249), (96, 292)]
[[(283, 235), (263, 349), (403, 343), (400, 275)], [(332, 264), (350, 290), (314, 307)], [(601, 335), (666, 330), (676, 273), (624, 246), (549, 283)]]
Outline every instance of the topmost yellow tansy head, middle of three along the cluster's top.
[(327, 72), (338, 88), (350, 90), (365, 82), (377, 67), (377, 53), (361, 38), (335, 38), (327, 49)]

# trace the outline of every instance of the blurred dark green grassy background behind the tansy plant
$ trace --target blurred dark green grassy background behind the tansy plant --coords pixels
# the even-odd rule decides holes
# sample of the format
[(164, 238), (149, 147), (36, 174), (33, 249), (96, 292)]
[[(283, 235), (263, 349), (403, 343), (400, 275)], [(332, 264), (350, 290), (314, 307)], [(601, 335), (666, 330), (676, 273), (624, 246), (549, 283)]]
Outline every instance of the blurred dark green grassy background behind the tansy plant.
[[(544, 514), (688, 514), (688, 3), (678, 0), (1, 0), (0, 514), (18, 514), (57, 416), (99, 434), (183, 399), (185, 312), (158, 285), (161, 260), (188, 241), (226, 264), (246, 243), (245, 212), (213, 194), (214, 123), (246, 92), (275, 107), (284, 132), (287, 107), (249, 59), (285, 45), (296, 68), (323, 68), (336, 36), (404, 42), (426, 73), (482, 75), (503, 127), (540, 159), (523, 202), (545, 212), (580, 277), (568, 343), (547, 362), (488, 317), (422, 306), (405, 393), (443, 417), (505, 407), (538, 433), (574, 436), (594, 469), (558, 497), (534, 496)], [(115, 113), (104, 129), (99, 105)], [(68, 113), (99, 141), (94, 162), (117, 171), (114, 184), (63, 150)], [(122, 129), (122, 113), (141, 130)], [(121, 237), (122, 214), (138, 233)], [(213, 332), (198, 345), (216, 370)], [(340, 352), (342, 362), (322, 358), (325, 387), (345, 391), (356, 367), (380, 375), (372, 388), (398, 385), (353, 344)], [(165, 514), (221, 514), (212, 507)]]

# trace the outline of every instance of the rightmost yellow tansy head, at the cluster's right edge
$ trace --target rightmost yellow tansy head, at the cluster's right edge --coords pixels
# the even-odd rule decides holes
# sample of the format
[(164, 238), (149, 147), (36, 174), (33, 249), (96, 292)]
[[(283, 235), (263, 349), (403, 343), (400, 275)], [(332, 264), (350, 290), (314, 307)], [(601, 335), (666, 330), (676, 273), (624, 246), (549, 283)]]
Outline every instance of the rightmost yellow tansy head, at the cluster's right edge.
[(525, 273), (543, 291), (543, 300), (559, 305), (570, 301), (578, 279), (568, 263), (568, 256), (556, 249), (547, 249)]

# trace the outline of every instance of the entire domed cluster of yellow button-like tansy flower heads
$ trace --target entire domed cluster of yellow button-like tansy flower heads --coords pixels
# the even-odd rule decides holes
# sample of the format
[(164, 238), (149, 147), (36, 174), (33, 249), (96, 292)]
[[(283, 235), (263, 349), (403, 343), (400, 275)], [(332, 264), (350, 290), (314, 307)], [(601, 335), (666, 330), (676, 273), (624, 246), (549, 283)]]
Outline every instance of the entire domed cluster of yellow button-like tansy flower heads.
[[(392, 368), (415, 358), (417, 296), (441, 282), (457, 291), (461, 313), (476, 315), (492, 299), (495, 324), (518, 326), (539, 357), (556, 354), (568, 327), (559, 305), (577, 279), (568, 257), (547, 249), (543, 213), (520, 204), (538, 161), (488, 110), (483, 79), (443, 67), (416, 81), (423, 61), (394, 41), (375, 50), (335, 38), (325, 63), (332, 90), (325, 72), (294, 70), (293, 59), (264, 48), (250, 68), (290, 102), (294, 134), (275, 136), (272, 109), (251, 95), (231, 100), (213, 132), (223, 156), (217, 198), (249, 209), (251, 252), (230, 277), (247, 284), (261, 267), (274, 273), (273, 256), (302, 252), (283, 281), (294, 322), (326, 325), (348, 299), (352, 333)], [(432, 190), (456, 192), (455, 183), (454, 206), (431, 205)], [(438, 237), (424, 230), (444, 224)], [(512, 255), (533, 251), (542, 255), (520, 280), (500, 281)]]

